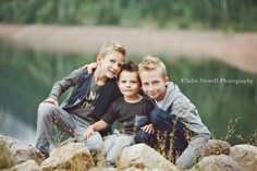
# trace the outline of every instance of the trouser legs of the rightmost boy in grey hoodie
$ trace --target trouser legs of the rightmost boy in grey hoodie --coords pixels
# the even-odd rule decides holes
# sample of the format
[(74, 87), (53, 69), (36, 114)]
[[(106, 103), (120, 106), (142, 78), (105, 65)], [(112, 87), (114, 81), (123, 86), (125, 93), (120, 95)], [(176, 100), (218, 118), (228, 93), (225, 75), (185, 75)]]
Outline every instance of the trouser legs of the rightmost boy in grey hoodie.
[[(175, 163), (182, 169), (189, 169), (199, 158), (203, 146), (210, 138), (209, 134), (196, 134), (176, 119), (174, 114), (160, 108), (155, 108), (150, 112), (150, 122), (155, 129), (167, 132), (166, 150), (170, 150), (170, 134), (174, 133), (172, 138), (172, 154)], [(192, 135), (191, 139), (186, 135)]]

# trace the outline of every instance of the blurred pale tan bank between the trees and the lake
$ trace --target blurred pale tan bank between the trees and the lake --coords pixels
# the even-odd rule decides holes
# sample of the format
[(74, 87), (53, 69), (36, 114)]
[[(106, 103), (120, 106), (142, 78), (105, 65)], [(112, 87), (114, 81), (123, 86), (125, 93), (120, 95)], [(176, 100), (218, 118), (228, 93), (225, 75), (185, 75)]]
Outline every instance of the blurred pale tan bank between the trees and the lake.
[(128, 54), (215, 58), (257, 73), (257, 33), (0, 24), (0, 39), (36, 51), (97, 53), (115, 39)]

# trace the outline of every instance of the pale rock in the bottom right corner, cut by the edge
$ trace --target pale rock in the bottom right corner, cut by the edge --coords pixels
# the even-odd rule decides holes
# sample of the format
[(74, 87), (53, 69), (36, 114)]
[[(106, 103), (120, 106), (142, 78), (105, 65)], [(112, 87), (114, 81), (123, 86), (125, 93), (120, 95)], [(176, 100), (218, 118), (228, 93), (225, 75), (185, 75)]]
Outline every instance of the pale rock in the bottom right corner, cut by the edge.
[(252, 145), (235, 145), (231, 147), (230, 156), (244, 171), (257, 171), (257, 147)]

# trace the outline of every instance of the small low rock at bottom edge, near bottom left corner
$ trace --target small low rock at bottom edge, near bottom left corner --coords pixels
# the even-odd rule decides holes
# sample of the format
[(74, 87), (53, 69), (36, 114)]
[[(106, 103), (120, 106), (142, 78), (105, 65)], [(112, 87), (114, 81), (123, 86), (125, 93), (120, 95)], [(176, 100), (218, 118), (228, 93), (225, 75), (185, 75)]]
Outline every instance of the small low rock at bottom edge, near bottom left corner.
[(20, 164), (16, 164), (9, 171), (40, 171), (40, 168), (35, 160), (27, 160)]

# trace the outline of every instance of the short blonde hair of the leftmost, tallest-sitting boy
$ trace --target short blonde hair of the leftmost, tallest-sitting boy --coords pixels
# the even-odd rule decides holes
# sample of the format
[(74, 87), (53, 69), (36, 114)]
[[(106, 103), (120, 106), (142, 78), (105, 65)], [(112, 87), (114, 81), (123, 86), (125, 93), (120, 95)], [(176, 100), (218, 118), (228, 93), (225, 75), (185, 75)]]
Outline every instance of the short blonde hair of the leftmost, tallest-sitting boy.
[(122, 44), (112, 40), (106, 41), (102, 45), (99, 56), (105, 57), (110, 52), (120, 52), (123, 57), (126, 56), (125, 47)]

